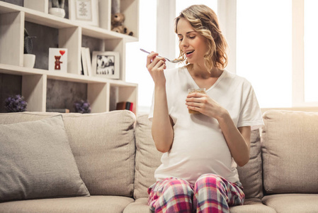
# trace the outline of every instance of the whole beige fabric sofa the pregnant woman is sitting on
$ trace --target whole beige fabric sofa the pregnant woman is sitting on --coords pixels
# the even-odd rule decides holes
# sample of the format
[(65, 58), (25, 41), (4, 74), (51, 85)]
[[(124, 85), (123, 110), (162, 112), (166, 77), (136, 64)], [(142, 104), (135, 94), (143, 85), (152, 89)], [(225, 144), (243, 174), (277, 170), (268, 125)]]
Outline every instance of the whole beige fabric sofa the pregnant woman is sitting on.
[[(265, 126), (251, 133), (249, 163), (238, 168), (246, 202), (230, 212), (318, 212), (318, 113), (266, 111), (263, 119)], [(60, 121), (62, 128), (55, 126)], [(12, 152), (6, 158), (21, 163), (5, 167), (8, 160), (1, 156), (0, 212), (149, 212), (147, 187), (155, 181), (161, 153), (147, 115), (24, 112), (0, 114), (0, 124), (0, 146)], [(13, 136), (17, 129), (22, 133)], [(33, 129), (38, 136), (28, 133)], [(64, 139), (52, 139), (63, 131)], [(59, 140), (65, 148), (56, 145)], [(61, 154), (69, 148), (65, 144), (71, 151)], [(35, 170), (43, 162), (46, 172)]]

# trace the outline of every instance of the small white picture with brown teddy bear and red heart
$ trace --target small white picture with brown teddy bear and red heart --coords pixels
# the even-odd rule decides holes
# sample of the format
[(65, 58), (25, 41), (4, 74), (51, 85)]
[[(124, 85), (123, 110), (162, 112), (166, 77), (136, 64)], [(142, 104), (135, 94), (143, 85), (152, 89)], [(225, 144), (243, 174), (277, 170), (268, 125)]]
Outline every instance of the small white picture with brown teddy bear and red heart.
[(67, 72), (66, 48), (49, 48), (49, 70)]

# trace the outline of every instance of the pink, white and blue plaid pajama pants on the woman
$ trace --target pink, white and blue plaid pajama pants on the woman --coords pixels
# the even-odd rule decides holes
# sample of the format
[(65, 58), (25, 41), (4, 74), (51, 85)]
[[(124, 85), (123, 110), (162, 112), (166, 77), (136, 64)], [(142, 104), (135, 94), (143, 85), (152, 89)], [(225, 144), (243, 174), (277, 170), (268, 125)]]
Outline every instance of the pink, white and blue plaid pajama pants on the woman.
[(220, 175), (205, 174), (191, 185), (186, 180), (166, 178), (148, 189), (148, 204), (153, 212), (229, 212), (229, 207), (244, 203), (241, 183)]

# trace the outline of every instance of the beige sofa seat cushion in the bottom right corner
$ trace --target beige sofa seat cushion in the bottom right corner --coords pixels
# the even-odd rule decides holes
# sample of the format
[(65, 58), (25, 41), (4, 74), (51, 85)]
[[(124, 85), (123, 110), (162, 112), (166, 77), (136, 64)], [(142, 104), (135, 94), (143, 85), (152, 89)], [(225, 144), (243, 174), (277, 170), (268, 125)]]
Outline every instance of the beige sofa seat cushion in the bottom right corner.
[(318, 195), (313, 194), (267, 195), (262, 202), (278, 213), (318, 212)]

